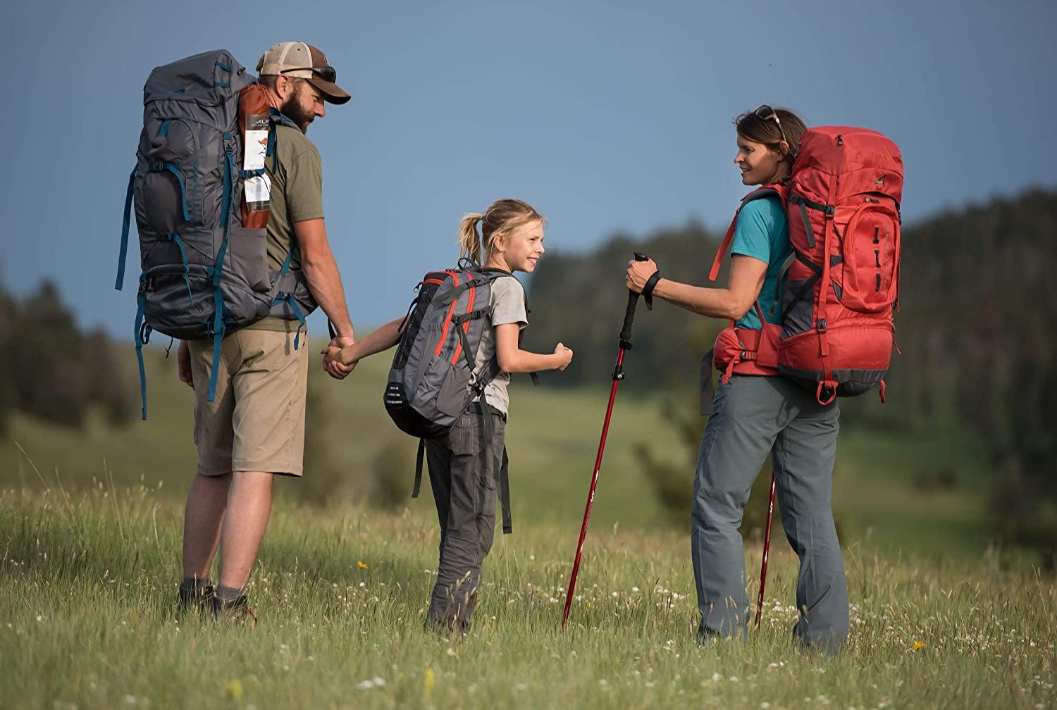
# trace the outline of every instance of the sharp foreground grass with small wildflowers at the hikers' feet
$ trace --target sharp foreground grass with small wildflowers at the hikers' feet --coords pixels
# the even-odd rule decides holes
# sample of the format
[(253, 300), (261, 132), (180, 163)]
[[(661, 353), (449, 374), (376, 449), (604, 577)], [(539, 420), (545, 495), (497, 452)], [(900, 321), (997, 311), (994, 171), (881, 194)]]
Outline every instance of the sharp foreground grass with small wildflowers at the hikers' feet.
[[(794, 648), (796, 560), (776, 547), (762, 631), (699, 647), (686, 536), (595, 525), (558, 630), (573, 521), (522, 519), (485, 562), (463, 639), (422, 618), (438, 531), (284, 503), (251, 582), (259, 623), (178, 620), (181, 510), (153, 488), (0, 494), (6, 708), (1050, 708), (1052, 580), (993, 557), (894, 563), (848, 545), (852, 630)], [(747, 550), (758, 568), (759, 548)], [(357, 564), (368, 565), (364, 569)], [(749, 596), (755, 598), (755, 577)], [(916, 648), (916, 650), (915, 650)]]

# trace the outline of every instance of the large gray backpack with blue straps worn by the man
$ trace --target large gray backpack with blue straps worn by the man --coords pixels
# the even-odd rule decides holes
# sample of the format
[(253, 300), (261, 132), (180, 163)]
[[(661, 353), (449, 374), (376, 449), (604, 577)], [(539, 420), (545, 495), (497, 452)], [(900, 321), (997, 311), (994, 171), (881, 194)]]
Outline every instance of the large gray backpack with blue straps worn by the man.
[[(268, 269), (266, 229), (242, 226), (239, 92), (256, 81), (226, 50), (159, 67), (143, 90), (143, 132), (129, 176), (114, 287), (125, 280), (134, 208), (142, 273), (136, 295), (135, 349), (143, 418), (147, 384), (143, 347), (152, 331), (182, 340), (211, 339), (214, 400), (224, 335), (265, 316), (296, 319), (316, 304), (293, 250), (279, 272)], [(295, 126), (271, 110), (266, 155), (275, 158), (275, 125)], [(294, 347), (298, 347), (300, 328)]]

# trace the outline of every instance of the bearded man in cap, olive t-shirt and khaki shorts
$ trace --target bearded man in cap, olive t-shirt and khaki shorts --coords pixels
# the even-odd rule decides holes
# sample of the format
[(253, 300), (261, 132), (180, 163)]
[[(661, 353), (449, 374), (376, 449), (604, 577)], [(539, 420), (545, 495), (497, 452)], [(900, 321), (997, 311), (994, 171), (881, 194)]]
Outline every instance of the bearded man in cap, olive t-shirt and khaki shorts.
[[(301, 269), (299, 276), (334, 324), (331, 344), (352, 344), (345, 289), (323, 223), (319, 151), (305, 137), (309, 125), (326, 115), (324, 101), (345, 104), (350, 96), (334, 83), (336, 72), (326, 55), (304, 42), (276, 44), (257, 71), (259, 85), (240, 96), (240, 114), (247, 100), (256, 101), (252, 113), (266, 114), (271, 107), (292, 124), (275, 126), (276, 160), (265, 161), (270, 269), (280, 272), (290, 255), (290, 270)], [(211, 605), (225, 614), (248, 609), (245, 587), (272, 509), (272, 479), (302, 473), (309, 348), (307, 337), (295, 348), (301, 326), (289, 316), (266, 317), (227, 335), (211, 403), (211, 344), (180, 343), (180, 379), (194, 389), (199, 452), (184, 510), (184, 609)], [(324, 367), (337, 379), (352, 371), (340, 363)], [(214, 588), (208, 575), (218, 545), (220, 577)]]

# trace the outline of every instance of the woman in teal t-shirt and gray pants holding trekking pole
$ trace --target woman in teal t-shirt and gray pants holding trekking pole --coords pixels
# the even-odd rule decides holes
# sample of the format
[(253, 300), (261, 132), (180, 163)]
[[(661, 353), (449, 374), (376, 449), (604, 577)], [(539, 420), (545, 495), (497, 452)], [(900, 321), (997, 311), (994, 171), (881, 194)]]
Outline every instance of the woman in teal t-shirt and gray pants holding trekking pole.
[[(791, 111), (761, 106), (735, 120), (735, 165), (745, 185), (780, 183), (791, 173), (805, 127)], [(789, 228), (777, 193), (746, 202), (737, 218), (729, 283), (704, 288), (652, 278), (652, 261), (631, 262), (627, 286), (712, 318), (737, 321), (742, 331), (760, 331), (760, 316), (779, 324), (773, 309), (782, 266), (790, 256)], [(758, 306), (758, 307), (757, 307)], [(758, 334), (757, 339), (759, 338)], [(747, 341), (747, 340), (746, 340)], [(745, 557), (738, 527), (749, 488), (768, 451), (778, 483), (785, 535), (800, 557), (796, 604), (800, 619), (794, 637), (836, 651), (848, 635), (848, 590), (840, 545), (831, 510), (836, 452), (836, 404), (819, 405), (814, 393), (786, 380), (777, 370), (750, 368), (721, 379), (705, 426), (693, 483), (690, 547), (701, 610), (699, 638), (747, 634)]]

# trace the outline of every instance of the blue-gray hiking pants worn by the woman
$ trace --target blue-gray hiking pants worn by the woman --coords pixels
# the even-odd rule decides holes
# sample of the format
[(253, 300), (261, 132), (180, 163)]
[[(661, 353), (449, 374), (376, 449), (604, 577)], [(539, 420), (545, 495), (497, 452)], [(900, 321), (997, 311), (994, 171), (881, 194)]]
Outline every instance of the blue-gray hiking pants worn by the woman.
[(848, 586), (831, 508), (838, 417), (836, 404), (823, 407), (780, 376), (734, 375), (719, 386), (701, 440), (690, 517), (701, 636), (747, 634), (738, 527), (768, 451), (782, 527), (800, 558), (793, 636), (830, 652), (848, 636)]

